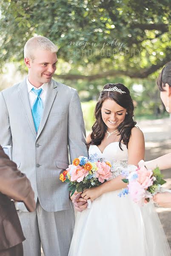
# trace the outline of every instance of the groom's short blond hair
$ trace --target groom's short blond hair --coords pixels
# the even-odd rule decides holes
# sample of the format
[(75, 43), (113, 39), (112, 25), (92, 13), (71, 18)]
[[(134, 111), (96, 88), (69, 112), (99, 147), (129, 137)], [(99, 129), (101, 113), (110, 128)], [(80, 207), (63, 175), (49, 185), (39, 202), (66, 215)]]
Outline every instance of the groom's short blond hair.
[(37, 49), (57, 52), (57, 46), (44, 36), (34, 36), (30, 38), (24, 46), (24, 58), (30, 58), (34, 61), (34, 52)]

